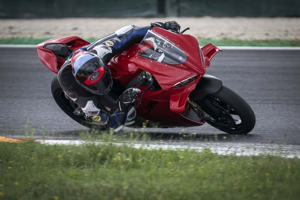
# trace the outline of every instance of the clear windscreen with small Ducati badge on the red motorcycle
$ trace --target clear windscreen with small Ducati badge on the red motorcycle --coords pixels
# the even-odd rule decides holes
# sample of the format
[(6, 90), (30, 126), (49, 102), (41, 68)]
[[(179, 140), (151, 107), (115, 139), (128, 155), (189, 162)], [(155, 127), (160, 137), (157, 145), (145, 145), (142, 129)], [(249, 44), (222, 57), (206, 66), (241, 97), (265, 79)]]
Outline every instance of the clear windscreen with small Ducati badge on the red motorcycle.
[(166, 64), (181, 64), (187, 60), (184, 51), (153, 31), (148, 31), (136, 52), (137, 56)]

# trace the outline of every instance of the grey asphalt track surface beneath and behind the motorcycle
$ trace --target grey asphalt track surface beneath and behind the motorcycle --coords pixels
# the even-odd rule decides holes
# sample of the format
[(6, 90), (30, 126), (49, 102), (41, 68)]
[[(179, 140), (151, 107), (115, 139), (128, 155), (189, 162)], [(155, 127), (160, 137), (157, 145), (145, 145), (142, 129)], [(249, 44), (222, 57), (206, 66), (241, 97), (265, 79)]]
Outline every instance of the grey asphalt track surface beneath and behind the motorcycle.
[[(192, 128), (146, 129), (171, 135), (197, 133), (197, 138), (223, 142), (300, 146), (300, 50), (224, 50), (212, 59), (207, 74), (242, 96), (256, 114), (246, 135), (230, 135), (209, 124)], [(35, 48), (0, 47), (0, 135), (70, 139), (89, 131), (67, 116), (51, 94), (55, 75)], [(131, 129), (126, 129), (131, 130)], [(132, 131), (132, 130), (131, 130)]]

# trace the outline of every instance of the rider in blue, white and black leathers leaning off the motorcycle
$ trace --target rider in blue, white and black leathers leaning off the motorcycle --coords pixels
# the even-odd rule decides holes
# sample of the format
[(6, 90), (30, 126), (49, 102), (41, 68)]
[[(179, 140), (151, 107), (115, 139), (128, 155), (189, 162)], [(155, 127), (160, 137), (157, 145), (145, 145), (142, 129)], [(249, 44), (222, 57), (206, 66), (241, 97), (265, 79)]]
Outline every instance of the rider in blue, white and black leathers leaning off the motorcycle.
[(133, 102), (141, 90), (125, 90), (112, 110), (99, 103), (99, 95), (108, 94), (112, 88), (113, 78), (106, 65), (110, 59), (132, 44), (141, 42), (147, 31), (155, 26), (180, 33), (180, 25), (176, 21), (152, 22), (151, 26), (145, 27), (129, 25), (72, 53), (57, 77), (66, 97), (78, 105), (74, 114), (106, 129), (112, 127), (114, 131), (134, 123)]

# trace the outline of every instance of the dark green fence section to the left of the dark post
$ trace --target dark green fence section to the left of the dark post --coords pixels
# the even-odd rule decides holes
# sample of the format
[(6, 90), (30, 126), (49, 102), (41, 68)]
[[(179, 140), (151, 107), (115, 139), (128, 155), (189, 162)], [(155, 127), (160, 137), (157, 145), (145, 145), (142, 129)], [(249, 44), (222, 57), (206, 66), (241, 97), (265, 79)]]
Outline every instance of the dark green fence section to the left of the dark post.
[(155, 16), (152, 0), (0, 0), (2, 18), (147, 17)]

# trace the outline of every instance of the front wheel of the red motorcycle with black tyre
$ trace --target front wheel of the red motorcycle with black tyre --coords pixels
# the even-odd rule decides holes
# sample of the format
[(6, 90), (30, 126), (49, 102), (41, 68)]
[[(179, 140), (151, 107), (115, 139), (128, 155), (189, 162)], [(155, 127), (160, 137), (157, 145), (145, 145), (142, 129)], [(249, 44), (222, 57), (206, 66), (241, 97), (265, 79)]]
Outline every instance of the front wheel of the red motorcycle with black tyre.
[[(222, 86), (216, 93), (204, 98), (220, 111), (219, 118), (215, 121), (204, 119), (211, 126), (231, 134), (246, 134), (254, 128), (256, 118), (252, 108), (233, 90)], [(201, 105), (201, 101), (195, 103)], [(210, 113), (210, 110), (207, 110), (209, 108), (201, 109)]]

